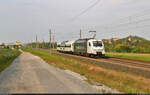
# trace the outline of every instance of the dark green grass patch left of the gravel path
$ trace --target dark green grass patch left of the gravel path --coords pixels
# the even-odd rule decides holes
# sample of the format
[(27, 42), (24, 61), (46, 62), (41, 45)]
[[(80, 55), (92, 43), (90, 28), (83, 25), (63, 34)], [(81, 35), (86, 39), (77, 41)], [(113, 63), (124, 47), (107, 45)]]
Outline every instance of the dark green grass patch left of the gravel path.
[(0, 49), (0, 72), (7, 68), (19, 55), (18, 50)]

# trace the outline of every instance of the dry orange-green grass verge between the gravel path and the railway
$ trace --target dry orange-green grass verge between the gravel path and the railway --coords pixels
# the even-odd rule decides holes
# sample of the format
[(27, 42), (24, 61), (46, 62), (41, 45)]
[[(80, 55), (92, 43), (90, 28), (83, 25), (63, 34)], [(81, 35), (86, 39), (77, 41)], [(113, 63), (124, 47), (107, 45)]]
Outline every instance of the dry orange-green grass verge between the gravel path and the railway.
[(132, 75), (127, 72), (102, 68), (97, 64), (85, 63), (80, 60), (50, 54), (46, 51), (34, 49), (23, 50), (40, 56), (50, 65), (61, 69), (69, 69), (73, 72), (84, 75), (88, 79), (88, 82), (92, 79), (125, 93), (150, 93), (150, 79), (148, 78)]

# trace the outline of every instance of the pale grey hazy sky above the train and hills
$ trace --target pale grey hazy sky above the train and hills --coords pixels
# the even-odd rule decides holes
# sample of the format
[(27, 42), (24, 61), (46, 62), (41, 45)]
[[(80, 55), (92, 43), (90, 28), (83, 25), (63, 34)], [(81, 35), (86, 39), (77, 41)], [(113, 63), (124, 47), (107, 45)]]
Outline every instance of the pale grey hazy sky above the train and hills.
[(80, 29), (83, 37), (96, 30), (98, 39), (137, 35), (150, 40), (150, 21), (144, 21), (150, 17), (150, 0), (101, 0), (84, 12), (95, 2), (0, 0), (0, 42), (31, 42), (35, 35), (48, 41), (50, 28), (58, 42), (77, 39)]

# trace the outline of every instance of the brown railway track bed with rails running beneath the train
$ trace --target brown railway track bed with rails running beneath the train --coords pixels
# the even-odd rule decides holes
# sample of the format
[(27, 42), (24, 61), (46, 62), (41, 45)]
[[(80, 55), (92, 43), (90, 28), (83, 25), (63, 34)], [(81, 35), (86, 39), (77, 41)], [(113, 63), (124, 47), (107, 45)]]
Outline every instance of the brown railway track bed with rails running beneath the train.
[[(44, 49), (44, 51), (49, 51), (49, 50)], [(111, 69), (121, 70), (121, 71), (150, 78), (150, 62), (120, 59), (120, 58), (90, 58), (90, 57), (84, 57), (79, 55), (59, 53), (57, 51), (52, 51), (52, 53), (57, 55), (63, 55), (69, 58), (73, 58), (85, 62), (96, 63), (101, 67), (108, 67)]]

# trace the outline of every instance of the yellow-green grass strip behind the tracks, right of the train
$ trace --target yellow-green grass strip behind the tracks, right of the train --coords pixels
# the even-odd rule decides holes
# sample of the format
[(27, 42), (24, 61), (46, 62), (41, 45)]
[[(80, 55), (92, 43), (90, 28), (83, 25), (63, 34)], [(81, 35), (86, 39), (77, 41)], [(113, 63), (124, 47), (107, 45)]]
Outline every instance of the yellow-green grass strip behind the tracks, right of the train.
[(140, 61), (150, 62), (150, 54), (136, 54), (136, 53), (114, 53), (107, 52), (106, 56), (108, 57), (116, 57), (116, 58), (126, 58)]

